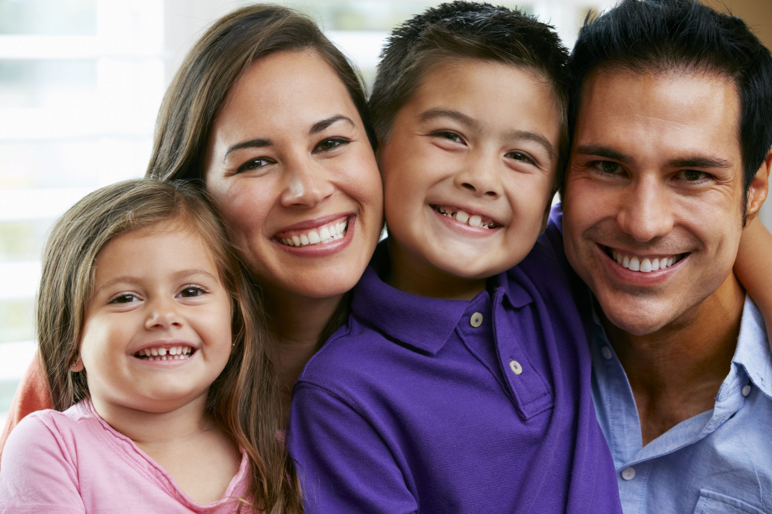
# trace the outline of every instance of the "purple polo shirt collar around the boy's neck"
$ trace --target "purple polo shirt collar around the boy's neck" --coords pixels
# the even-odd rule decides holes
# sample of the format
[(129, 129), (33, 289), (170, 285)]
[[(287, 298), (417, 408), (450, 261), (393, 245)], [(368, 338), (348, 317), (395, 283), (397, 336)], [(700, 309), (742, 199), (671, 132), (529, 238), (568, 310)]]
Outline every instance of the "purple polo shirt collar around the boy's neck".
[[(436, 354), (448, 341), (469, 306), (489, 293), (482, 291), (471, 301), (461, 301), (399, 291), (381, 280), (390, 266), (387, 244), (388, 240), (378, 244), (370, 265), (354, 287), (351, 311), (388, 337), (428, 354)], [(512, 284), (507, 273), (489, 279), (492, 291), (503, 290), (502, 297), (513, 307), (530, 303), (530, 294)]]

